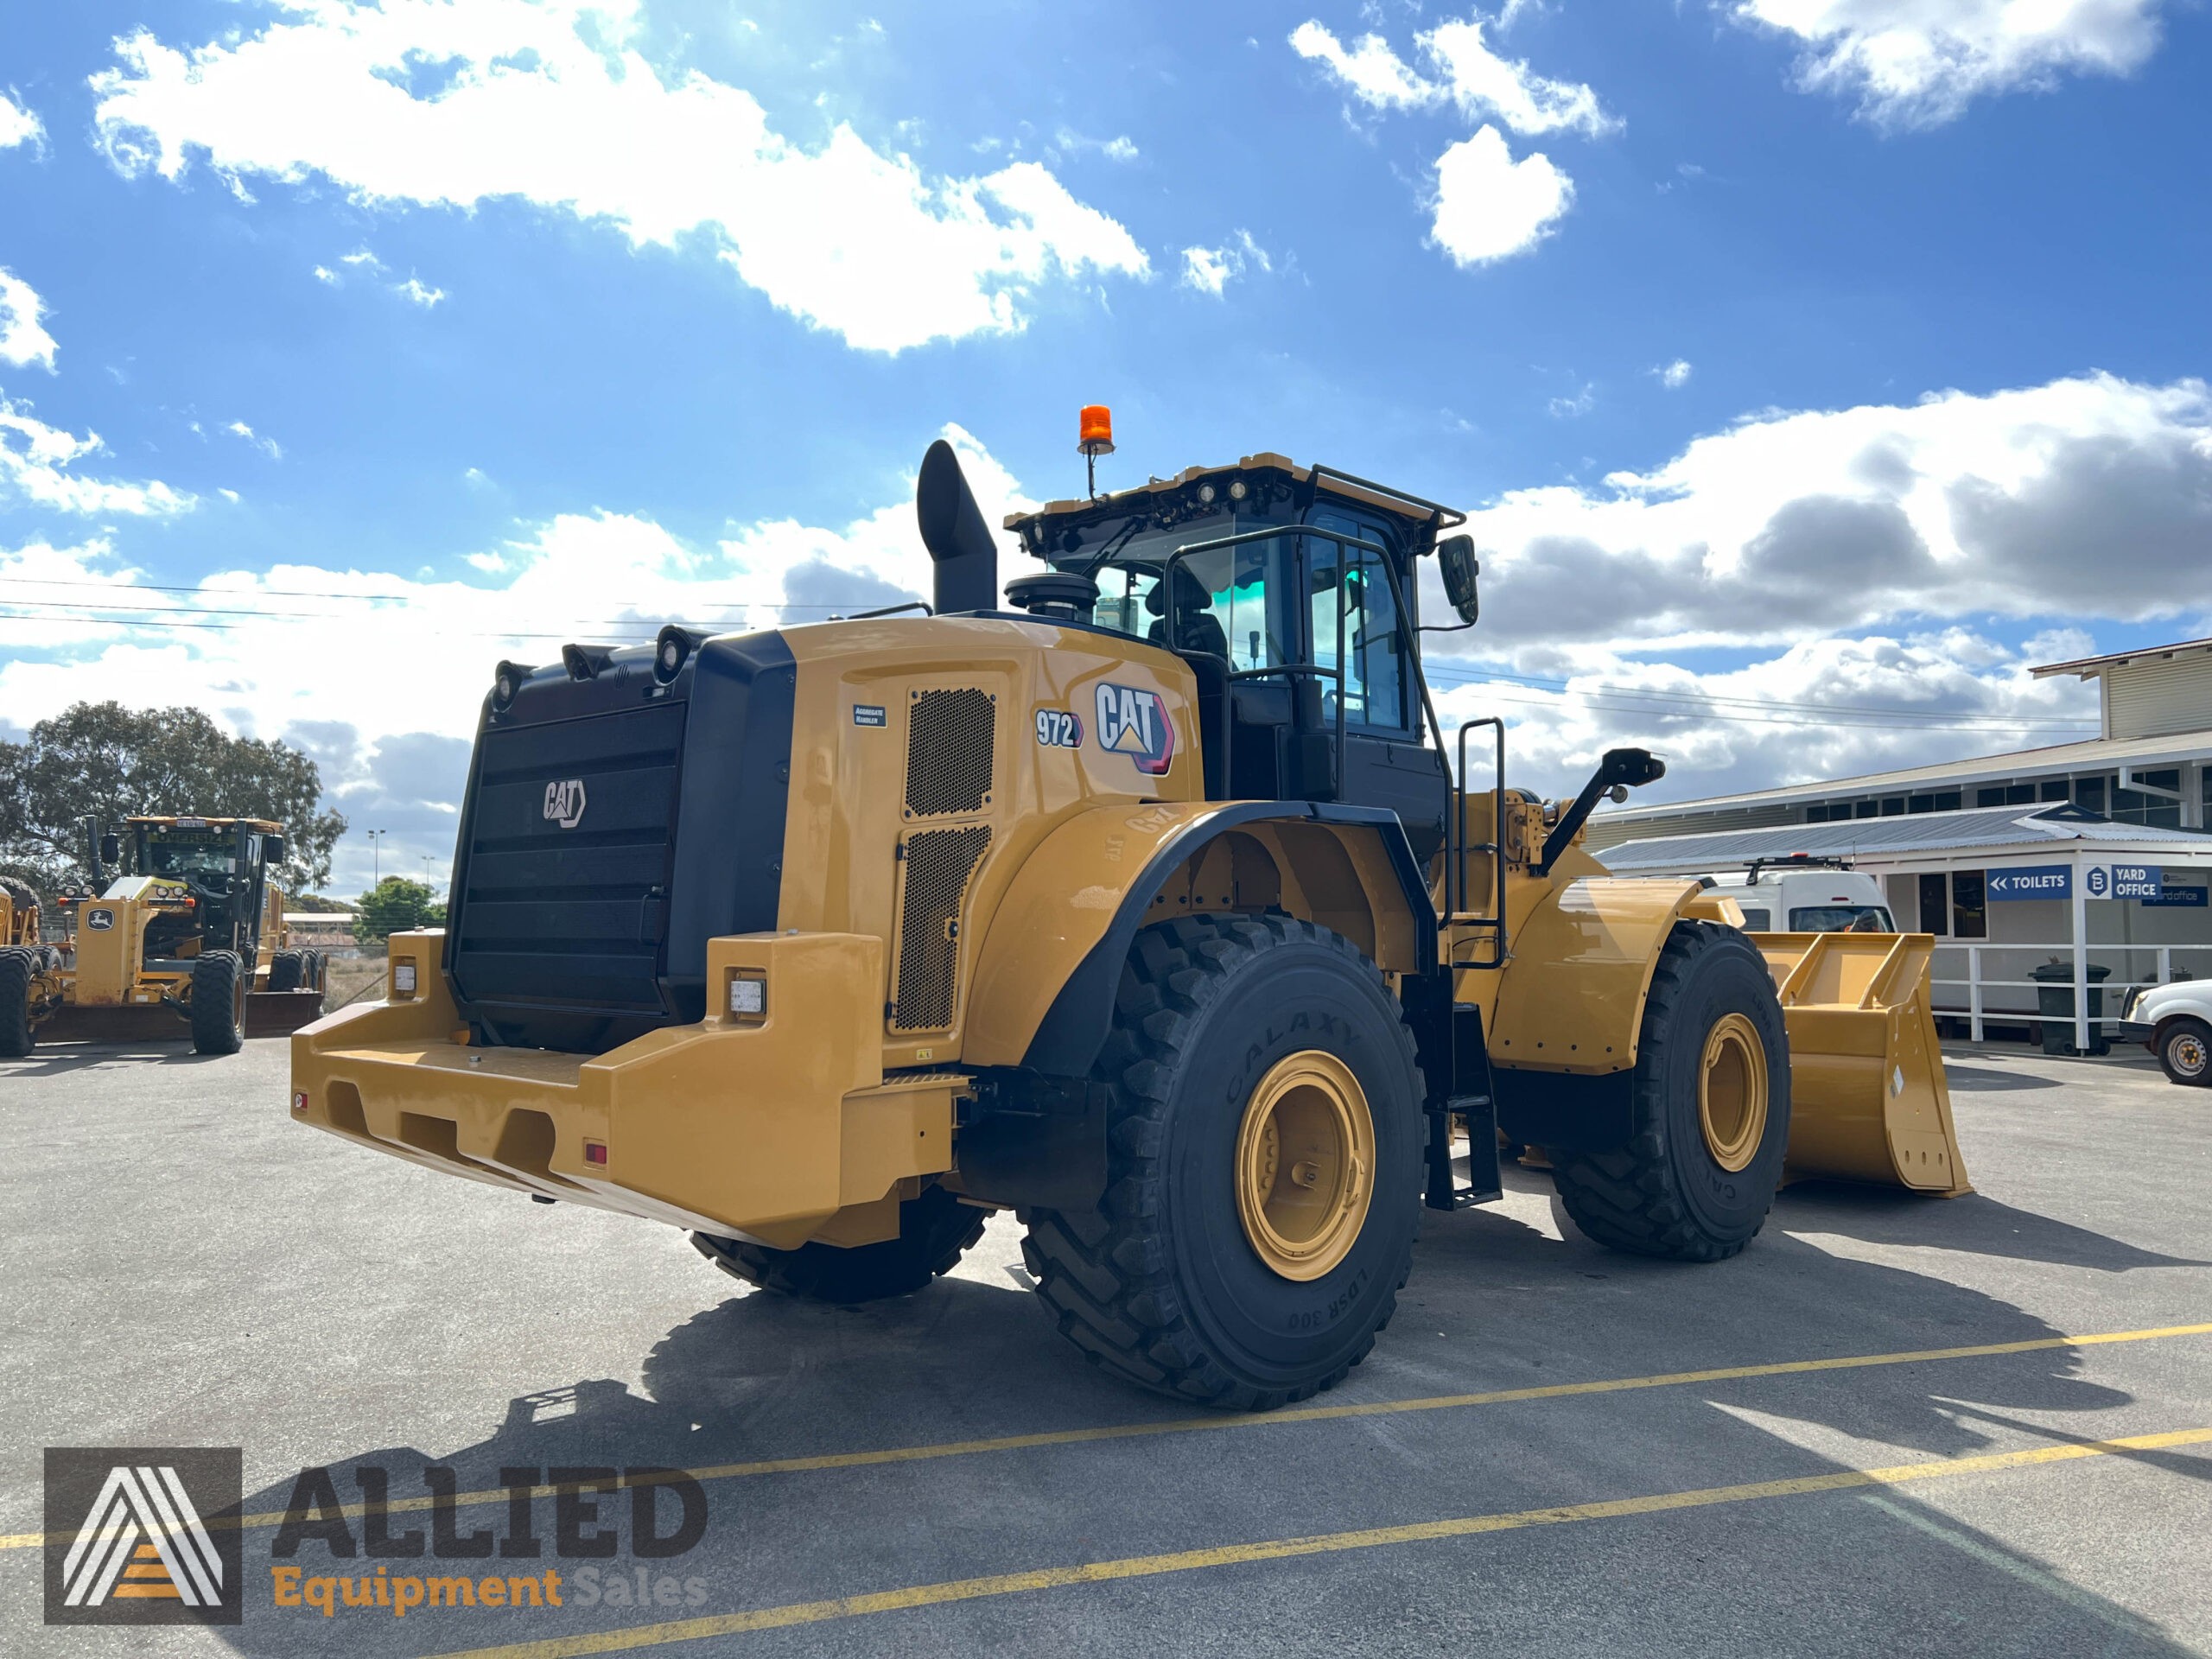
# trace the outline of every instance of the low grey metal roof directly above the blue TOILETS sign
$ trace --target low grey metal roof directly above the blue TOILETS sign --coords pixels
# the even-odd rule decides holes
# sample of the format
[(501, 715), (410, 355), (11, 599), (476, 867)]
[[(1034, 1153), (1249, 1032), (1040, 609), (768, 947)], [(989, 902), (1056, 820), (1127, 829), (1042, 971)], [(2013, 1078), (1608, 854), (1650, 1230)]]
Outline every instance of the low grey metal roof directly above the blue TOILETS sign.
[(1644, 872), (1703, 874), (1734, 869), (1752, 858), (1783, 858), (1794, 852), (1832, 858), (1880, 858), (1916, 852), (1960, 852), (2004, 847), (2017, 852), (2068, 852), (2097, 843), (2110, 852), (2139, 852), (2174, 863), (2212, 860), (2212, 830), (2157, 830), (2112, 823), (2077, 805), (1966, 807), (1964, 812), (1916, 812), (1891, 818), (1847, 818), (1840, 823), (1785, 823), (1774, 830), (1723, 830), (1703, 836), (1646, 836), (1593, 854), (1617, 876)]

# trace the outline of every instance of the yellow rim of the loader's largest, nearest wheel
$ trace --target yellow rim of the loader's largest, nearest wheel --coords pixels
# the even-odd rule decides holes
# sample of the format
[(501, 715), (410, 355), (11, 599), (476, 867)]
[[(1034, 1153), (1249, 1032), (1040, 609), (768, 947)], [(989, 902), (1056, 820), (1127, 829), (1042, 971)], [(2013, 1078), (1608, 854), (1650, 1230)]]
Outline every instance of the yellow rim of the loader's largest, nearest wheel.
[(1367, 1225), (1376, 1126), (1336, 1055), (1274, 1064), (1237, 1130), (1237, 1214), (1252, 1252), (1283, 1279), (1321, 1279)]

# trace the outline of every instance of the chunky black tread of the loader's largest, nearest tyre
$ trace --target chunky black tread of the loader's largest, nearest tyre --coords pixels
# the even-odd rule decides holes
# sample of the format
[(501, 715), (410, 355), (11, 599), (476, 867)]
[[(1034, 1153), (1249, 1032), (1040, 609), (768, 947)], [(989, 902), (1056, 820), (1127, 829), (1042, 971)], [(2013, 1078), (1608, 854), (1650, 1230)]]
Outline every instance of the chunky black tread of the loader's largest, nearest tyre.
[[(1029, 1210), (1022, 1261), (1060, 1334), (1102, 1371), (1161, 1394), (1232, 1411), (1270, 1411), (1345, 1380), (1389, 1325), (1411, 1272), (1411, 1252), (1383, 1296), (1383, 1316), (1332, 1374), (1294, 1389), (1261, 1389), (1230, 1376), (1181, 1307), (1155, 1219), (1166, 1206), (1168, 1095), (1199, 1009), (1232, 971), (1283, 945), (1325, 945), (1380, 980), (1340, 933), (1294, 916), (1179, 916), (1144, 929), (1130, 949), (1113, 1029), (1093, 1079), (1113, 1088), (1106, 1117), (1108, 1186), (1095, 1214)], [(1396, 1024), (1413, 1068), (1413, 1033)], [(1418, 1088), (1418, 1082), (1416, 1082)]]

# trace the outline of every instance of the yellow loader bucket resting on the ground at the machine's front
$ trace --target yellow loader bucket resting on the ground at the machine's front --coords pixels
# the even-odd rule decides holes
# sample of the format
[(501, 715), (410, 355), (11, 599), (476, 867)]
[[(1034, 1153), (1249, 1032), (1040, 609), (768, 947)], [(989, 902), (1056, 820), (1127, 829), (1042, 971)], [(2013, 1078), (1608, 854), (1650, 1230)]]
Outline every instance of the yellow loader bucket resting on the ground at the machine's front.
[(1929, 933), (1752, 933), (1790, 1026), (1783, 1181), (1971, 1192), (1929, 1002)]

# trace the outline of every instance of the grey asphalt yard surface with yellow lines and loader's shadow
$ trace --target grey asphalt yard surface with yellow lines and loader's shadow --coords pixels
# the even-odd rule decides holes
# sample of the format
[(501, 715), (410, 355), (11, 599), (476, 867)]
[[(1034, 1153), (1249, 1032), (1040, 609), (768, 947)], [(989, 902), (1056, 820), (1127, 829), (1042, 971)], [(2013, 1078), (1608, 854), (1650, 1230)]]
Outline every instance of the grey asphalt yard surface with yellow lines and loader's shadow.
[[(1091, 1371), (1013, 1217), (750, 1294), (294, 1126), (285, 1060), (0, 1062), (7, 1655), (2212, 1652), (2212, 1091), (2141, 1055), (1955, 1048), (1973, 1194), (1792, 1188), (1712, 1267), (1515, 1168), (1270, 1418)], [(243, 1619), (44, 1624), (49, 1447), (237, 1447)]]

